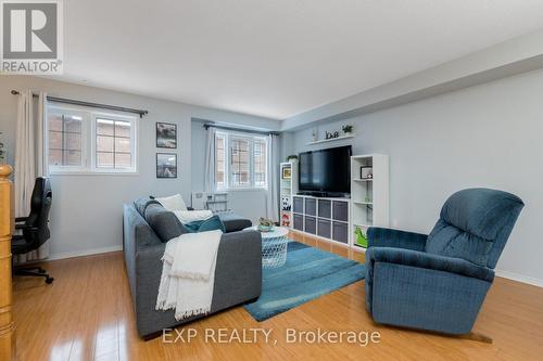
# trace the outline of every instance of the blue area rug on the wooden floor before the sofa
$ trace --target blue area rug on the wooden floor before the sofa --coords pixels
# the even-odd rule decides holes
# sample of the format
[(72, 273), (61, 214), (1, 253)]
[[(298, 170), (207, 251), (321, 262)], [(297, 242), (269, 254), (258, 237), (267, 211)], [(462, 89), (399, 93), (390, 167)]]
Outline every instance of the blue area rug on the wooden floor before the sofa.
[(362, 263), (291, 241), (285, 266), (263, 269), (261, 297), (243, 307), (253, 319), (264, 321), (363, 280), (365, 274)]

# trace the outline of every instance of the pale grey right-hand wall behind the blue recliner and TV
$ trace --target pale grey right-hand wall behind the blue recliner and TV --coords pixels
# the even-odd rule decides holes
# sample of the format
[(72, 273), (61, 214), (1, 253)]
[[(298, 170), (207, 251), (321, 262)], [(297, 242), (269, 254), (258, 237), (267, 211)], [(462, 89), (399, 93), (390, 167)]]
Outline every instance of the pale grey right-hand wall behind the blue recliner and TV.
[[(543, 285), (543, 69), (318, 127), (353, 124), (354, 154), (390, 155), (394, 228), (429, 232), (446, 197), (469, 186), (520, 196), (526, 207), (497, 269)], [(312, 129), (295, 132), (296, 153)], [(504, 273), (505, 272), (505, 273)]]

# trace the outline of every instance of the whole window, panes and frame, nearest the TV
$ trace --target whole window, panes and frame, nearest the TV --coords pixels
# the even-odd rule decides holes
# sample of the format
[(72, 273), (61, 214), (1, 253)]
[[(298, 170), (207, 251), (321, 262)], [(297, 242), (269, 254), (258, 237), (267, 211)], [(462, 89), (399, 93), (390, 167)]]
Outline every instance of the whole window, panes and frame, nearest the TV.
[(267, 188), (267, 138), (217, 131), (215, 183), (217, 189)]

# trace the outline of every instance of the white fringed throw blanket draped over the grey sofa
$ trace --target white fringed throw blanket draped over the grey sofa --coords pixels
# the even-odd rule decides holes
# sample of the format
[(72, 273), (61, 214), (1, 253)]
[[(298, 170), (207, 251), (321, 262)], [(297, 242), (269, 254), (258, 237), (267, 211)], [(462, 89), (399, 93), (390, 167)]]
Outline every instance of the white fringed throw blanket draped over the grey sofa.
[(186, 233), (166, 243), (156, 310), (175, 309), (177, 321), (210, 312), (222, 234)]

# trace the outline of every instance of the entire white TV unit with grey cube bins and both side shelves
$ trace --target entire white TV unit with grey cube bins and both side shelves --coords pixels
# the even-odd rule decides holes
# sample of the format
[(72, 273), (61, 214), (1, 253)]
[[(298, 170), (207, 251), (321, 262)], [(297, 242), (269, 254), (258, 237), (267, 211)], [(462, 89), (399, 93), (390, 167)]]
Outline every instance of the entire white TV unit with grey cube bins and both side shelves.
[[(382, 154), (351, 157), (351, 198), (316, 197), (298, 193), (298, 162), (281, 163), (281, 225), (325, 241), (365, 250), (356, 231), (389, 225), (389, 157)], [(371, 177), (362, 175), (362, 169)], [(283, 178), (285, 175), (290, 177)], [(363, 177), (364, 176), (364, 177)], [(285, 201), (285, 202), (283, 202)]]

